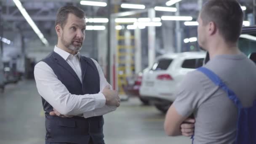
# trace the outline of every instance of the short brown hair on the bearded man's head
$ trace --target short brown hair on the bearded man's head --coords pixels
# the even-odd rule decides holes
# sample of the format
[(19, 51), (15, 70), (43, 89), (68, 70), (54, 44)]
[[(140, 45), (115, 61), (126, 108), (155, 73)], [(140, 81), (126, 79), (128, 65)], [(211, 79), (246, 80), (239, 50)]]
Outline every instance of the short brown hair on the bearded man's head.
[(59, 8), (59, 10), (57, 12), (55, 26), (57, 24), (60, 24), (61, 28), (63, 28), (67, 22), (67, 17), (69, 15), (69, 13), (72, 13), (81, 19), (85, 18), (85, 12), (81, 8), (78, 8), (75, 6), (64, 6), (64, 7)]

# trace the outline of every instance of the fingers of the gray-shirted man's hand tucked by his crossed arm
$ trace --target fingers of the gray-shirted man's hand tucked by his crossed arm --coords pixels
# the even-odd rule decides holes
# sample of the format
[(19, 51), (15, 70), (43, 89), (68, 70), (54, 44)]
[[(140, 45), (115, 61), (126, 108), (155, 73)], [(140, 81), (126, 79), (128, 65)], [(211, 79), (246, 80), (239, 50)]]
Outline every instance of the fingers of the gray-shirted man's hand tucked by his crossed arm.
[(192, 136), (195, 129), (195, 119), (187, 118), (181, 123), (181, 133), (183, 136)]

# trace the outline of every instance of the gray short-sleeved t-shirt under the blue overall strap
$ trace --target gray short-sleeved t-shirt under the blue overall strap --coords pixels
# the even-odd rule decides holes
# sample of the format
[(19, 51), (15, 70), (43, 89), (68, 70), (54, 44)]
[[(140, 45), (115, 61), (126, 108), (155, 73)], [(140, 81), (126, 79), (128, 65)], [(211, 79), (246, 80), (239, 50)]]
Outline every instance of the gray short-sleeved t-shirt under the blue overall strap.
[[(243, 107), (256, 100), (256, 64), (244, 54), (219, 55), (208, 61), (211, 69), (235, 92)], [(189, 72), (177, 90), (177, 112), (195, 116), (194, 144), (232, 144), (236, 136), (237, 108), (227, 93), (205, 74)]]

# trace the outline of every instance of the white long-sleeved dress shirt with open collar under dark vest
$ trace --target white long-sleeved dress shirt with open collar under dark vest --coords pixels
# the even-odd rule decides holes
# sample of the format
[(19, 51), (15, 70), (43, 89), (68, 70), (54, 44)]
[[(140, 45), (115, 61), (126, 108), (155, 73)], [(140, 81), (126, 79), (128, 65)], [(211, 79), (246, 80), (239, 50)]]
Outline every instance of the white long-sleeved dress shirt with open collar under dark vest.
[[(75, 56), (55, 46), (54, 52), (58, 53), (74, 69), (75, 73), (82, 81), (80, 66), (80, 53)], [(101, 67), (95, 63), (100, 78), (100, 92), (96, 94), (75, 95), (69, 93), (67, 88), (57, 78), (51, 67), (43, 61), (35, 65), (35, 81), (38, 93), (62, 115), (81, 115), (83, 117), (93, 117), (104, 115), (116, 109), (115, 106), (105, 105), (106, 99), (101, 91), (109, 85)]]

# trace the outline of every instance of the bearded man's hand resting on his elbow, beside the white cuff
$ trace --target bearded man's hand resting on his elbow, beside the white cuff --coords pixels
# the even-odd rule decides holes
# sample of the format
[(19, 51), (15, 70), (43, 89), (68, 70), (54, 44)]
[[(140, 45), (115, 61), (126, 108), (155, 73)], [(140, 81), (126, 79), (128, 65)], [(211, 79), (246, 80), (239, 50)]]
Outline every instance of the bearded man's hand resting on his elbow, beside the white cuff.
[(103, 89), (102, 93), (103, 93), (103, 95), (106, 98), (106, 105), (116, 106), (116, 107), (120, 106), (120, 98), (118, 96), (117, 91), (110, 90), (110, 86), (109, 85), (107, 85)]

